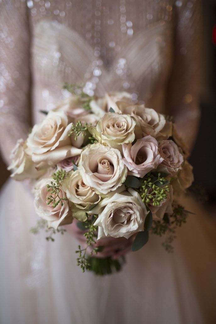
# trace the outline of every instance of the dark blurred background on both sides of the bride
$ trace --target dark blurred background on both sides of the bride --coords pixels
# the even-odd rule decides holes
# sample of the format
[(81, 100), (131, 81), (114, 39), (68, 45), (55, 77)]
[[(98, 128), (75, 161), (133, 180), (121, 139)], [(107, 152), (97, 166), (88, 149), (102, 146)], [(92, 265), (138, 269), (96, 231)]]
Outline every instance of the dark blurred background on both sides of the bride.
[[(200, 128), (189, 162), (194, 167), (193, 192), (205, 203), (216, 203), (216, 0), (203, 0), (203, 60), (200, 94)], [(203, 170), (208, 167), (208, 172)], [(0, 157), (0, 187), (9, 176)]]

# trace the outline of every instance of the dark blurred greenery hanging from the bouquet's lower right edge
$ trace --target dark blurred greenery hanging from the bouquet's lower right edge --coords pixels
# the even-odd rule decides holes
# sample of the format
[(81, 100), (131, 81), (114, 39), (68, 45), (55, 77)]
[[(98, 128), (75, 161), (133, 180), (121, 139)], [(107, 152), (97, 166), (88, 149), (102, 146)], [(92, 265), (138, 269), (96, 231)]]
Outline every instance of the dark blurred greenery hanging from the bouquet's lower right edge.
[(173, 240), (176, 238), (176, 228), (182, 226), (186, 223), (187, 214), (193, 214), (184, 209), (181, 205), (176, 205), (173, 209), (173, 214), (168, 215), (164, 214), (164, 217), (161, 221), (154, 221), (151, 228), (151, 232), (158, 236), (167, 235), (165, 241), (162, 243), (162, 246), (166, 249), (167, 252), (172, 253), (174, 248), (172, 246)]

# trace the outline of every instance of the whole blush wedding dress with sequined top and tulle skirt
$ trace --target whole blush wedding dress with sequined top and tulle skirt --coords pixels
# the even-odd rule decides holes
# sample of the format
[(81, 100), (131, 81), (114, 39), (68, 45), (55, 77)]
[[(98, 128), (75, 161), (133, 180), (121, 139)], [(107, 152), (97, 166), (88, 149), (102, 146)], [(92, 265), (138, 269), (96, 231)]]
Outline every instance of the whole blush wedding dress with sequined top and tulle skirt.
[[(199, 120), (199, 1), (0, 1), (1, 150), (26, 138), (29, 119), (64, 97), (63, 83), (89, 95), (132, 93), (175, 117), (191, 145)], [(30, 107), (32, 109), (30, 109)], [(215, 222), (198, 203), (177, 231), (175, 252), (151, 236), (120, 273), (81, 272), (70, 234), (32, 235), (28, 184), (9, 179), (0, 197), (2, 324), (215, 323)]]

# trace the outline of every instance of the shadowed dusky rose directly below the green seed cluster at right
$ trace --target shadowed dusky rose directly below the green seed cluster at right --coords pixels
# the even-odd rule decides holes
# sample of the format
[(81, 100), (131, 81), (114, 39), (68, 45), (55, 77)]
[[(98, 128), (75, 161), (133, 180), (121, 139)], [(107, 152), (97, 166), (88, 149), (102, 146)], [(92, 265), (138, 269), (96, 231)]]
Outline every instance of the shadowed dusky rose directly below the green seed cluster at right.
[(150, 201), (148, 204), (149, 209), (152, 212), (152, 217), (153, 220), (158, 221), (162, 220), (164, 217), (164, 214), (172, 214), (173, 213), (173, 208), (172, 208), (172, 203), (173, 203), (173, 187), (170, 186), (170, 192), (166, 192), (167, 198), (164, 199), (159, 206), (153, 206), (153, 203)]

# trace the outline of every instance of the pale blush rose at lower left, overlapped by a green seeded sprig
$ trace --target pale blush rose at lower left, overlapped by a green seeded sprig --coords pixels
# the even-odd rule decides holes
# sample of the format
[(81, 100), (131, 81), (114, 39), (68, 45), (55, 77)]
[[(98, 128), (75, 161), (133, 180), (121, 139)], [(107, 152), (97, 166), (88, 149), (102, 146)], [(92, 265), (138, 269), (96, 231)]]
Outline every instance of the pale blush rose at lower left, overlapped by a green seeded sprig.
[[(47, 204), (47, 198), (51, 195), (50, 191), (47, 191), (47, 184), (54, 181), (51, 178), (45, 178), (37, 182), (35, 186), (35, 199), (34, 207), (36, 213), (44, 220), (48, 222), (49, 227), (55, 229), (60, 225), (71, 224), (73, 217), (69, 208), (68, 201), (63, 201), (63, 206), (59, 203), (56, 207), (52, 206), (52, 203)], [(59, 197), (65, 197), (65, 192), (60, 187)], [(56, 201), (58, 198), (56, 198)]]

